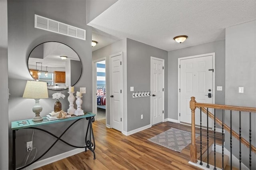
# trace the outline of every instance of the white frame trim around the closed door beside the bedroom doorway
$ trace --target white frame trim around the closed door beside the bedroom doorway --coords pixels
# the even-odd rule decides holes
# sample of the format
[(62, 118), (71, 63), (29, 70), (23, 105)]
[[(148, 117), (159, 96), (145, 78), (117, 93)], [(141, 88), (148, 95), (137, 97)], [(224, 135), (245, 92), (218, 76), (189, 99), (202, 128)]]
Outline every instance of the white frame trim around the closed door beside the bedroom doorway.
[[(121, 55), (122, 56), (122, 61), (123, 61), (123, 63), (122, 63), (122, 105), (121, 105), (121, 108), (122, 108), (122, 115), (121, 115), (121, 117), (122, 117), (122, 130), (121, 130), (121, 132), (122, 133), (124, 133), (124, 54), (123, 54), (123, 52), (119, 52), (119, 53), (115, 53), (115, 54), (112, 54), (112, 55), (109, 55), (109, 73), (110, 73), (110, 86), (111, 86), (111, 80), (112, 80), (112, 77), (111, 77), (111, 57), (115, 57), (115, 56), (118, 56), (118, 55)], [(110, 92), (110, 94), (111, 94), (111, 88), (109, 88), (109, 92)], [(110, 98), (108, 97), (108, 99), (110, 100)], [(110, 106), (111, 106), (111, 101), (110, 101)], [(125, 120), (126, 121), (126, 120)], [(111, 114), (111, 107), (110, 107), (110, 128), (112, 128), (112, 114)]]

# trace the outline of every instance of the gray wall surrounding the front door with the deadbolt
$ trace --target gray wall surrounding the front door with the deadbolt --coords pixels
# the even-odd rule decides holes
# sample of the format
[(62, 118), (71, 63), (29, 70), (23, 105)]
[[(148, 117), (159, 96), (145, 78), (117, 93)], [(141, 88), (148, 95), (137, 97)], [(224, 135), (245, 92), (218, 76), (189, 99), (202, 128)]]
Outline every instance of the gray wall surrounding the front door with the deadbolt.
[[(178, 120), (178, 58), (213, 52), (215, 104), (225, 104), (225, 40), (168, 51), (168, 118)], [(216, 91), (217, 86), (222, 86), (222, 91)]]

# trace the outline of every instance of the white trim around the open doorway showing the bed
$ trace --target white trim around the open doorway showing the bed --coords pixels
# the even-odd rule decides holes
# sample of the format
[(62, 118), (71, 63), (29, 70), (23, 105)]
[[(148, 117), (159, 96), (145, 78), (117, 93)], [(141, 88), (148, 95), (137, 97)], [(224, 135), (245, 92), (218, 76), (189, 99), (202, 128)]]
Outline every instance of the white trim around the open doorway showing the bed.
[[(97, 113), (97, 102), (96, 102), (97, 97), (94, 93), (97, 90), (97, 88), (96, 88), (96, 86), (97, 86), (97, 67), (96, 67), (96, 63), (99, 62), (99, 61), (103, 61), (103, 60), (105, 60), (105, 62), (106, 62), (106, 57), (102, 57), (100, 59), (96, 59), (96, 60), (92, 61), (92, 113), (94, 113), (96, 115), (96, 120), (98, 119), (98, 117), (97, 117), (97, 115), (98, 115), (98, 113)], [(107, 82), (107, 77), (108, 77), (108, 73), (107, 73), (106, 67), (105, 67), (106, 82)], [(108, 90), (107, 89), (107, 83), (105, 85), (105, 88), (106, 88), (106, 90)], [(108, 115), (107, 114), (107, 103), (108, 103), (108, 100), (106, 100), (106, 125), (107, 125), (107, 120), (108, 120), (108, 118), (107, 118), (107, 115)]]

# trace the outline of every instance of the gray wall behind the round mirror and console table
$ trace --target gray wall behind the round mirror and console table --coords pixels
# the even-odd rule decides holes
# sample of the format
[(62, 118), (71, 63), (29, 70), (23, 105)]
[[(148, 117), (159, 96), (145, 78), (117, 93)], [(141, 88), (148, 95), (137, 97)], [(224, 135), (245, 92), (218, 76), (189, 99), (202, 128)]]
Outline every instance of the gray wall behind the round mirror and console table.
[[(92, 111), (92, 47), (91, 47), (91, 28), (86, 26), (86, 2), (77, 0), (66, 1), (31, 1), (31, 0), (12, 0), (8, 1), (8, 72), (9, 72), (9, 141), (11, 144), (11, 121), (24, 119), (32, 119), (34, 113), (33, 99), (23, 99), (23, 91), (27, 80), (32, 80), (27, 67), (27, 60), (30, 51), (38, 44), (48, 41), (62, 42), (72, 47), (80, 56), (83, 65), (83, 73), (80, 81), (75, 85), (75, 91), (79, 91), (80, 87), (86, 87), (86, 94), (83, 95), (82, 109), (84, 111)], [(78, 28), (86, 30), (86, 41), (76, 38), (64, 36), (34, 28), (34, 14), (44, 16), (59, 22), (70, 24)], [(61, 91), (66, 95), (65, 99), (61, 99), (62, 109), (68, 109), (68, 90)], [(40, 99), (40, 105), (43, 107), (41, 115), (45, 117), (53, 110), (54, 99), (52, 94), (56, 91), (48, 90), (49, 98)], [(54, 129), (53, 132), (59, 134), (65, 129), (68, 123), (58, 123), (42, 128)], [(79, 122), (76, 127), (70, 130), (64, 136), (68, 142), (83, 145), (84, 136), (81, 135), (85, 129), (81, 128), (87, 124), (87, 121)], [(79, 130), (77, 130), (79, 129)], [(26, 158), (26, 142), (31, 140), (31, 130), (18, 130), (17, 133), (17, 167), (24, 164)], [(42, 141), (47, 141), (43, 143)], [(53, 139), (41, 132), (36, 131), (34, 135), (34, 147), (38, 148), (37, 156), (45, 151), (46, 146), (52, 143)], [(62, 142), (57, 143), (42, 159), (55, 156), (73, 150), (74, 148), (64, 145)], [(11, 152), (11, 150), (10, 150)], [(11, 154), (10, 154), (11, 156)], [(31, 157), (30, 157), (31, 158)], [(10, 158), (11, 160), (11, 158)], [(30, 161), (31, 159), (29, 159)], [(11, 167), (11, 166), (10, 166)]]

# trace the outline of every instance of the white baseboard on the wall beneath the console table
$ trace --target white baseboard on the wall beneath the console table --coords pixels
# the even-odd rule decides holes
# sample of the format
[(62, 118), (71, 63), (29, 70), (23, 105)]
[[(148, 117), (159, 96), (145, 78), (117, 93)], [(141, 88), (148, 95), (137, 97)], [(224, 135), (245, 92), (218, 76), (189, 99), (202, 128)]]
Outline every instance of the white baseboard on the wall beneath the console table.
[(26, 170), (33, 170), (33, 169), (39, 168), (41, 166), (50, 164), (52, 162), (56, 162), (58, 160), (67, 158), (69, 156), (72, 156), (72, 155), (75, 155), (75, 154), (79, 154), (80, 152), (84, 152), (84, 151), (85, 151), (85, 148), (76, 148), (74, 150), (70, 150), (68, 152), (64, 152), (62, 154), (58, 154), (58, 155), (52, 156), (50, 158), (46, 158), (44, 160), (39, 160), (39, 161), (35, 162), (34, 164), (28, 166), (26, 168)]

